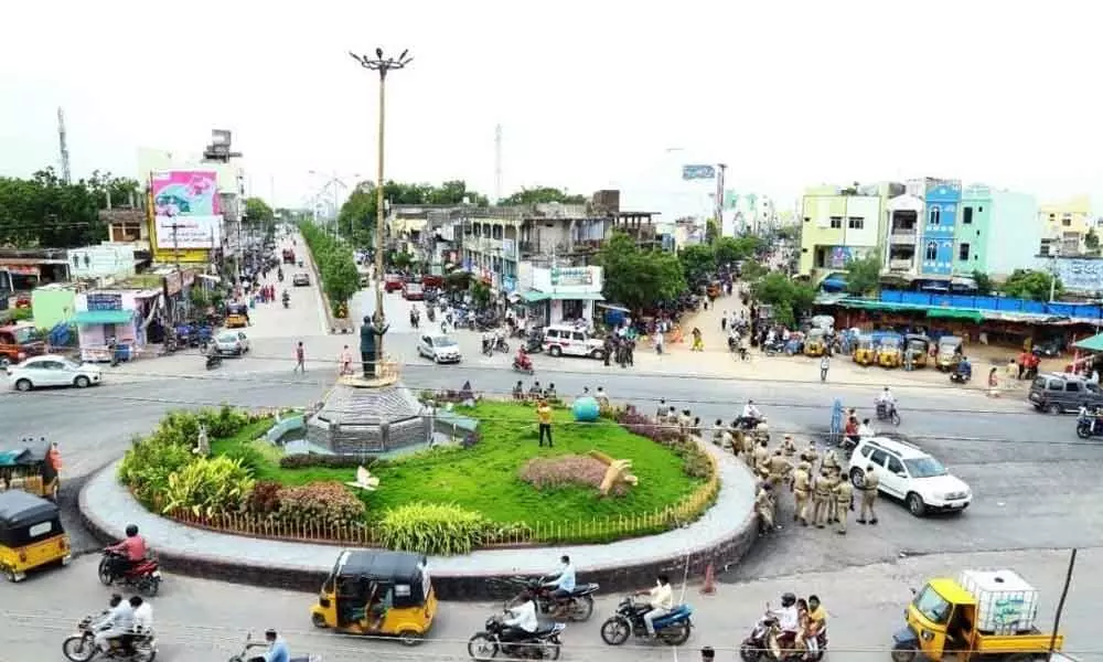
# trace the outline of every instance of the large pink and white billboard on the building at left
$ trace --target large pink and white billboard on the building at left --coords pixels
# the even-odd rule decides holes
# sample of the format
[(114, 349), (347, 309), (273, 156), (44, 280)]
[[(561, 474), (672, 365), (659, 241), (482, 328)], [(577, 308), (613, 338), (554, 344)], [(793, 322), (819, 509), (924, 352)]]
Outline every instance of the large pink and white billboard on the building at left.
[(150, 190), (158, 249), (211, 249), (222, 244), (222, 202), (215, 171), (156, 172), (150, 177)]

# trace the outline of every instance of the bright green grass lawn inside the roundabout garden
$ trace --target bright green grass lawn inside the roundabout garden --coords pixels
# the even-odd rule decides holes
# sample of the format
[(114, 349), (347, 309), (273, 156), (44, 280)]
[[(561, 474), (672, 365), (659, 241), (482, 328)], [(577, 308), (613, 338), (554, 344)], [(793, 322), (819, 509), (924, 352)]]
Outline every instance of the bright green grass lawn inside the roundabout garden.
[[(414, 501), (456, 503), (495, 522), (553, 522), (617, 514), (643, 514), (687, 496), (703, 481), (682, 471), (682, 460), (670, 449), (625, 431), (607, 420), (578, 425), (570, 412), (555, 412), (555, 448), (537, 446), (533, 407), (512, 403), (482, 403), (461, 412), (480, 421), (482, 440), (473, 448), (419, 453), (372, 469), (379, 489), (363, 493), (371, 513)], [(233, 440), (212, 445), (224, 452), (231, 445), (256, 438), (260, 430), (245, 430)], [(251, 436), (250, 436), (251, 435)], [(517, 478), (518, 469), (534, 457), (585, 455), (601, 450), (614, 459), (632, 460), (640, 484), (623, 496), (598, 499), (597, 490), (565, 487), (537, 491)], [(257, 478), (285, 484), (319, 480), (353, 480), (353, 469), (280, 469), (266, 456)]]

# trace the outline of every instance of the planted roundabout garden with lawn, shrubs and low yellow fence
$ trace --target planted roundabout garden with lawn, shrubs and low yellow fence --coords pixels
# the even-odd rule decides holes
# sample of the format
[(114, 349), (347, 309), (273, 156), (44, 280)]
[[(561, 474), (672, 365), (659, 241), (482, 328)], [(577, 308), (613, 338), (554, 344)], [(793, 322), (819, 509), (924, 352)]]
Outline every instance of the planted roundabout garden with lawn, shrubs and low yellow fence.
[(696, 520), (719, 490), (707, 451), (631, 407), (592, 423), (556, 407), (554, 448), (537, 445), (533, 404), (454, 413), (478, 421), (461, 442), (355, 457), (285, 455), (266, 438), (274, 415), (176, 412), (136, 439), (119, 480), (193, 526), (430, 555), (653, 535)]

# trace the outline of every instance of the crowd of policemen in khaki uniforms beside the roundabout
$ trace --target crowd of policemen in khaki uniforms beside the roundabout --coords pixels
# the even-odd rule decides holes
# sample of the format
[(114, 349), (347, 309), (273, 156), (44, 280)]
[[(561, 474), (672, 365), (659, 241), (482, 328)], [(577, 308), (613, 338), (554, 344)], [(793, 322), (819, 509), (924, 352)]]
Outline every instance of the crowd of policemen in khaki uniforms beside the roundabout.
[[(860, 502), (859, 524), (877, 524), (874, 504), (877, 501), (878, 478), (872, 466), (866, 468), (861, 480), (852, 484), (833, 449), (821, 457), (815, 441), (797, 452), (792, 435), (785, 435), (778, 448), (770, 449), (770, 428), (761, 418), (753, 430), (739, 429), (738, 421), (725, 426), (720, 419), (713, 428), (713, 442), (743, 461), (759, 479), (754, 495), (754, 510), (759, 516), (759, 532), (774, 531), (778, 502), (783, 487), (793, 494), (793, 521), (803, 526), (825, 528), (832, 524), (839, 534), (846, 534), (847, 516), (854, 511), (855, 491)], [(795, 468), (794, 468), (795, 460)]]

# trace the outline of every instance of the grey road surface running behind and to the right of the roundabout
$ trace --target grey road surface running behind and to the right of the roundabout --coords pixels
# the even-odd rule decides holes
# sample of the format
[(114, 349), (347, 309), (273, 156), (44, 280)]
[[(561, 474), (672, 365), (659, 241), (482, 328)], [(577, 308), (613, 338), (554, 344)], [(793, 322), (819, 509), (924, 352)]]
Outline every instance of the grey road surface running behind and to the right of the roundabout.
[[(333, 384), (342, 346), (355, 351), (358, 338), (323, 333), (324, 318), (313, 284), (288, 289), (291, 308), (258, 307), (253, 327), (246, 329), (251, 352), (227, 360), (221, 369), (205, 371), (201, 356), (182, 353), (124, 365), (96, 388), (0, 394), (6, 440), (45, 436), (61, 442), (63, 502), (78, 551), (95, 548), (71, 510), (81, 478), (120, 456), (136, 435), (149, 430), (164, 413), (221, 403), (304, 406), (320, 399)], [(730, 420), (753, 398), (770, 417), (775, 435), (793, 433), (802, 446), (808, 436), (822, 437), (826, 431), (836, 399), (868, 413), (879, 391), (872, 385), (848, 385), (847, 371), (853, 369), (845, 362), (836, 363), (832, 383), (826, 385), (644, 374), (587, 359), (543, 355), (535, 356), (537, 373), (528, 377), (510, 369), (507, 354), (482, 356), (479, 337), (470, 331), (456, 333), (464, 361), (438, 366), (417, 357), (418, 333), (409, 325), (410, 305), (389, 295), (385, 306), (392, 322), (387, 352), (406, 364), (404, 381), (415, 389), (458, 389), (470, 381), (475, 391), (505, 395), (517, 378), (526, 386), (535, 378), (545, 385), (554, 383), (560, 394), (577, 395), (583, 387), (592, 391), (600, 385), (613, 401), (633, 403), (645, 413), (654, 412), (665, 398), (679, 409), (692, 408), (706, 424), (717, 417)], [(362, 292), (355, 314), (373, 309), (374, 296)], [(307, 350), (307, 373), (293, 374), (292, 356), (300, 341)], [(770, 360), (761, 361), (753, 364), (754, 370), (772, 374)], [(902, 505), (882, 499), (880, 524), (876, 528), (852, 524), (845, 538), (829, 531), (785, 526), (761, 541), (738, 567), (722, 573), (724, 580), (831, 570), (901, 555), (1062, 548), (1103, 541), (1103, 509), (1099, 508), (1103, 444), (1077, 439), (1071, 417), (1037, 414), (1018, 398), (989, 399), (976, 392), (931, 384), (895, 392), (903, 423), (889, 434), (910, 439), (941, 459), (971, 485), (973, 505), (960, 515), (915, 519)], [(786, 498), (780, 517), (783, 524), (790, 508)]]

